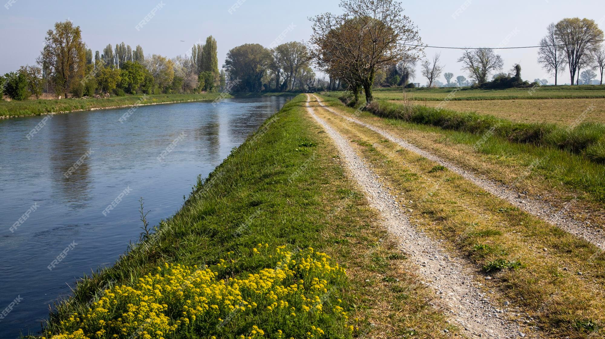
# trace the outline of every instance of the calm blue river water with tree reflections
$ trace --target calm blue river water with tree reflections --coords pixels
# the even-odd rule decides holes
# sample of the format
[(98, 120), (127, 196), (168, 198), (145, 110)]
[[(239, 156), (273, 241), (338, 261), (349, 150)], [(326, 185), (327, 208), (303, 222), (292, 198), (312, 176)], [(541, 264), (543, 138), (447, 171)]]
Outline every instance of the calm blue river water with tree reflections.
[(48, 305), (139, 238), (140, 197), (151, 226), (174, 214), (287, 100), (140, 106), (123, 123), (127, 108), (0, 120), (0, 338), (38, 332)]

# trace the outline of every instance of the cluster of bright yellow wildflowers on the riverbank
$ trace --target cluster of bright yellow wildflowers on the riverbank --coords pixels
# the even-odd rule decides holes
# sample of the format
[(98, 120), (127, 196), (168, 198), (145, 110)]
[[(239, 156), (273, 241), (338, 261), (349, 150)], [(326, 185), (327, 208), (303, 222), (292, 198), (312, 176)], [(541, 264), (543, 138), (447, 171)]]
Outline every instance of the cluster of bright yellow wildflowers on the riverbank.
[[(318, 338), (325, 336), (322, 322), (347, 329), (341, 300), (332, 297), (344, 282), (344, 269), (311, 248), (293, 253), (285, 246), (267, 247), (258, 244), (252, 255), (270, 258), (273, 268), (239, 278), (218, 277), (226, 267), (223, 259), (216, 270), (164, 264), (132, 287), (106, 290), (88, 312), (60, 322), (62, 334), (51, 339), (162, 339), (181, 332), (208, 338), (227, 333), (241, 339)], [(263, 329), (248, 327), (250, 318)]]

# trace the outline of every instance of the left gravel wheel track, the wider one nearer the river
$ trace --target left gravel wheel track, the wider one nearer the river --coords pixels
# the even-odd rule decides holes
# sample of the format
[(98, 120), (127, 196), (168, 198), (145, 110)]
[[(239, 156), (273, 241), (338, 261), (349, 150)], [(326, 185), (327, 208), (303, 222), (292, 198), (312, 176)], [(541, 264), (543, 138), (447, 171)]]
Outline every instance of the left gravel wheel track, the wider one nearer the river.
[[(463, 259), (449, 255), (439, 244), (418, 232), (397, 205), (395, 198), (384, 190), (364, 161), (348, 144), (347, 139), (319, 118), (309, 106), (307, 111), (334, 140), (350, 174), (365, 192), (370, 205), (381, 212), (384, 225), (397, 237), (401, 249), (417, 265), (423, 284), (434, 288), (443, 306), (450, 309), (452, 318), (464, 329), (467, 337), (517, 338), (525, 337), (517, 323), (508, 320), (508, 312), (515, 309), (497, 309), (474, 280), (475, 272)], [(465, 266), (466, 265), (466, 266)], [(480, 277), (480, 279), (484, 279)], [(518, 311), (517, 311), (518, 312)]]

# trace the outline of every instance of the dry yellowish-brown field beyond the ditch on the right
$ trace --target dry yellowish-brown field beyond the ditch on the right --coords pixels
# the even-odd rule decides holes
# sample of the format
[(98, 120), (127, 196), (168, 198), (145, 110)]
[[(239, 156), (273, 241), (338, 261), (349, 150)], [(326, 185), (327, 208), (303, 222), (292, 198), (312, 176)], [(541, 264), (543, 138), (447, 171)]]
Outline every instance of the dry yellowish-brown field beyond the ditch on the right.
[[(402, 100), (392, 100), (404, 103)], [(577, 123), (578, 117), (590, 106), (583, 121), (605, 123), (605, 99), (540, 99), (540, 100), (460, 100), (449, 101), (412, 101), (415, 105), (458, 110), (460, 112), (477, 112), (490, 114), (499, 118), (518, 122), (554, 122), (560, 125)]]

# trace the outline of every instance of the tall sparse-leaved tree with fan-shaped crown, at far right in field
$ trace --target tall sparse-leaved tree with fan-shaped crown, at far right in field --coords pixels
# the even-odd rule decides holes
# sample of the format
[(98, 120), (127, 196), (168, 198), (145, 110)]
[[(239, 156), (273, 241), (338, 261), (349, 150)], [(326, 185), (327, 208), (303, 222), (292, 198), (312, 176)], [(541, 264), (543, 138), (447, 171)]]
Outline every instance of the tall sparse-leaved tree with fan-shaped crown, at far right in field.
[(597, 40), (603, 40), (603, 31), (598, 28), (594, 20), (574, 17), (557, 22), (555, 36), (567, 57), (565, 62), (569, 66), (569, 76), (573, 85), (575, 75), (587, 61), (587, 57), (598, 48)]

